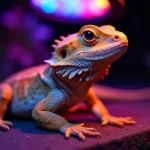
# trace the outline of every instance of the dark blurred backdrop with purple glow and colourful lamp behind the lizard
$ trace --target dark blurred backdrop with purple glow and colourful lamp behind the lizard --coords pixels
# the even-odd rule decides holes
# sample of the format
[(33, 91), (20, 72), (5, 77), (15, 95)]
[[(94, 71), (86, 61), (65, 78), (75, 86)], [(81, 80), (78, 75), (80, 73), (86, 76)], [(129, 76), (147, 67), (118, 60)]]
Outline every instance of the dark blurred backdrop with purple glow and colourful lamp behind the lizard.
[(0, 81), (44, 64), (60, 35), (85, 24), (110, 24), (129, 39), (127, 53), (114, 63), (102, 84), (150, 85), (150, 23), (146, 1), (14, 0), (0, 5)]

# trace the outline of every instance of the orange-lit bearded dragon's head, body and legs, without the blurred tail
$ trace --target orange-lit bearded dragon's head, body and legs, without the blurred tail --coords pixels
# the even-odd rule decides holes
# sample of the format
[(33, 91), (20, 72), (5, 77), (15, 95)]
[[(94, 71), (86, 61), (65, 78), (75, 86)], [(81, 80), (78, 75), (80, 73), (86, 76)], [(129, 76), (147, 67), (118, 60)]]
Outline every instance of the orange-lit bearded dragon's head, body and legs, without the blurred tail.
[[(111, 25), (85, 25), (78, 33), (60, 36), (48, 64), (18, 72), (0, 84), (0, 128), (8, 131), (10, 121), (3, 120), (9, 108), (17, 117), (31, 117), (52, 131), (85, 140), (100, 137), (94, 128), (73, 124), (61, 116), (83, 101), (102, 125), (134, 125), (131, 117), (111, 116), (92, 89), (93, 83), (108, 74), (110, 64), (125, 54), (128, 39)], [(109, 94), (109, 93), (108, 93)]]

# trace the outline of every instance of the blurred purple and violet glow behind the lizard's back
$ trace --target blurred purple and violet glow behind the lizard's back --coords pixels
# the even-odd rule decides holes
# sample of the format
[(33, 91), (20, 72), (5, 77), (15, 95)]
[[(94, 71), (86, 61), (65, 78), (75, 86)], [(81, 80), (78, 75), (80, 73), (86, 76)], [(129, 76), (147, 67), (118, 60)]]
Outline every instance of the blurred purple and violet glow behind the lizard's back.
[[(24, 12), (20, 6), (6, 9), (1, 15), (1, 27), (5, 31), (0, 49), (4, 51), (1, 63), (1, 77), (37, 64), (43, 64), (51, 57), (49, 41), (55, 35), (50, 23), (41, 21), (31, 12)], [(7, 61), (6, 61), (7, 60)]]

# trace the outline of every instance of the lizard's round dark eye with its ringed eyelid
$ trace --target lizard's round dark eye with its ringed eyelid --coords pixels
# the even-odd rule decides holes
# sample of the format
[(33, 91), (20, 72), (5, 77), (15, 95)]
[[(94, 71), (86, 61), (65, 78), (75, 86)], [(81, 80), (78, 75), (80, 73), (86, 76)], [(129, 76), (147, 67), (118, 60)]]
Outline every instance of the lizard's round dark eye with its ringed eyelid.
[(95, 34), (92, 31), (85, 31), (82, 34), (83, 41), (87, 45), (93, 45), (97, 41)]

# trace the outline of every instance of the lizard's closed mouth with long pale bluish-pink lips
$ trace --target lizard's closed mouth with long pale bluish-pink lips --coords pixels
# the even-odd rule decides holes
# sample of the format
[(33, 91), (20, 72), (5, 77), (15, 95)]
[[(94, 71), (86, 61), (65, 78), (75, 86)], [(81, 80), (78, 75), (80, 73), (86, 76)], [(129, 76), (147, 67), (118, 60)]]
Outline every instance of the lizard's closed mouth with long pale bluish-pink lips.
[(77, 55), (80, 57), (84, 57), (86, 60), (97, 61), (111, 58), (112, 56), (121, 57), (127, 50), (127, 44), (122, 44), (116, 47), (112, 47), (108, 50), (103, 49), (101, 51), (89, 51), (89, 52), (81, 52)]

